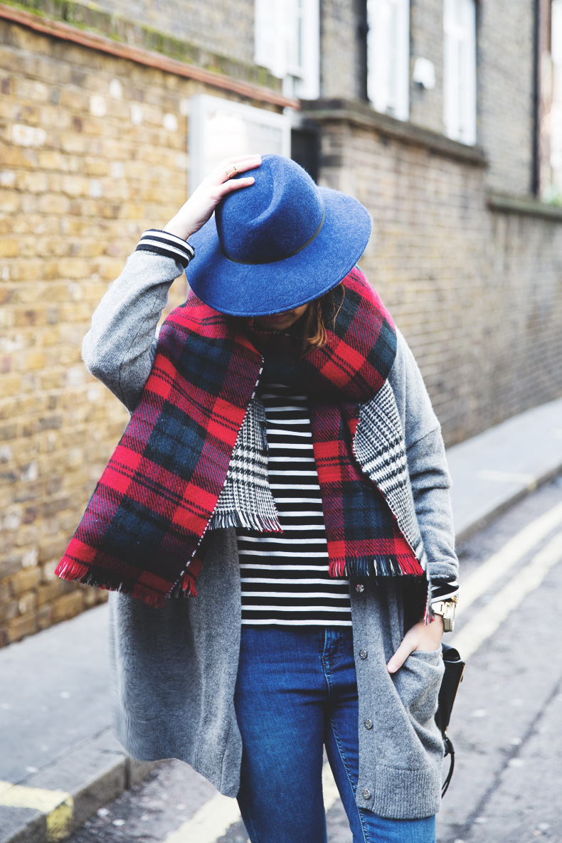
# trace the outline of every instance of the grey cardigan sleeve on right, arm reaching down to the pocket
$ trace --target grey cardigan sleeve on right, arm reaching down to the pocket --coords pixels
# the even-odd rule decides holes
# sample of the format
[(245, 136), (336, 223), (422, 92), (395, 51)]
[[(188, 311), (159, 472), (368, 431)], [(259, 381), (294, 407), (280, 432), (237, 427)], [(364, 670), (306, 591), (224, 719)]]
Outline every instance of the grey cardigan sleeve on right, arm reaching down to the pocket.
[(398, 352), (388, 382), (404, 429), (409, 481), (427, 556), (431, 602), (458, 593), (458, 559), (441, 426), (414, 355), (398, 331)]

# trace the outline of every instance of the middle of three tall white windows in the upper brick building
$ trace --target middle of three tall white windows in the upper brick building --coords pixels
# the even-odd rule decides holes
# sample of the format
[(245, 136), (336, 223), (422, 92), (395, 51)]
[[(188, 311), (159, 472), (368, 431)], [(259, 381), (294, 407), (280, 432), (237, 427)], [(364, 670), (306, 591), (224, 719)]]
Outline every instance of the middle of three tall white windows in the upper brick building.
[(409, 0), (367, 0), (367, 97), (408, 120)]

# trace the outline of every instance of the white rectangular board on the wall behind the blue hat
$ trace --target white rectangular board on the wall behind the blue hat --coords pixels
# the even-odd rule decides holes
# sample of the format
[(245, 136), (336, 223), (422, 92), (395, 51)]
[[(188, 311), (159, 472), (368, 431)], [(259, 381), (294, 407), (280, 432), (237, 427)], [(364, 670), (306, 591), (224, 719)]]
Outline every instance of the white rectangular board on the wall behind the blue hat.
[(291, 117), (207, 94), (190, 99), (190, 193), (222, 158), (291, 156)]

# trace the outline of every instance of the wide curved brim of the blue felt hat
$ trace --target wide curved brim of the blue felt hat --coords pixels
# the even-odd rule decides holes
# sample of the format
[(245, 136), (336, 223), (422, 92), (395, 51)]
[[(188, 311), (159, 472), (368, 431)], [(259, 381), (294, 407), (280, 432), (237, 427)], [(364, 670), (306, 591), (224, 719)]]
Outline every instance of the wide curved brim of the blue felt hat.
[(367, 247), (371, 217), (353, 196), (328, 187), (318, 191), (326, 209), (318, 236), (297, 255), (272, 263), (228, 260), (213, 215), (190, 237), (195, 258), (185, 274), (195, 295), (223, 314), (269, 316), (307, 304), (343, 281)]

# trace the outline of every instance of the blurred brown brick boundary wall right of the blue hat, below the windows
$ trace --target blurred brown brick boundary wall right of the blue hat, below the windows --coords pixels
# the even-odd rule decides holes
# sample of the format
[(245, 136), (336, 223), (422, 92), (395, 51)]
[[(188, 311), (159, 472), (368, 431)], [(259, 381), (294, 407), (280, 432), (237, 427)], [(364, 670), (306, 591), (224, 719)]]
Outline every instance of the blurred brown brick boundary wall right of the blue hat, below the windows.
[(562, 218), (493, 212), (482, 164), (324, 121), (320, 183), (371, 212), (361, 269), (415, 352), (448, 444), (562, 395)]

